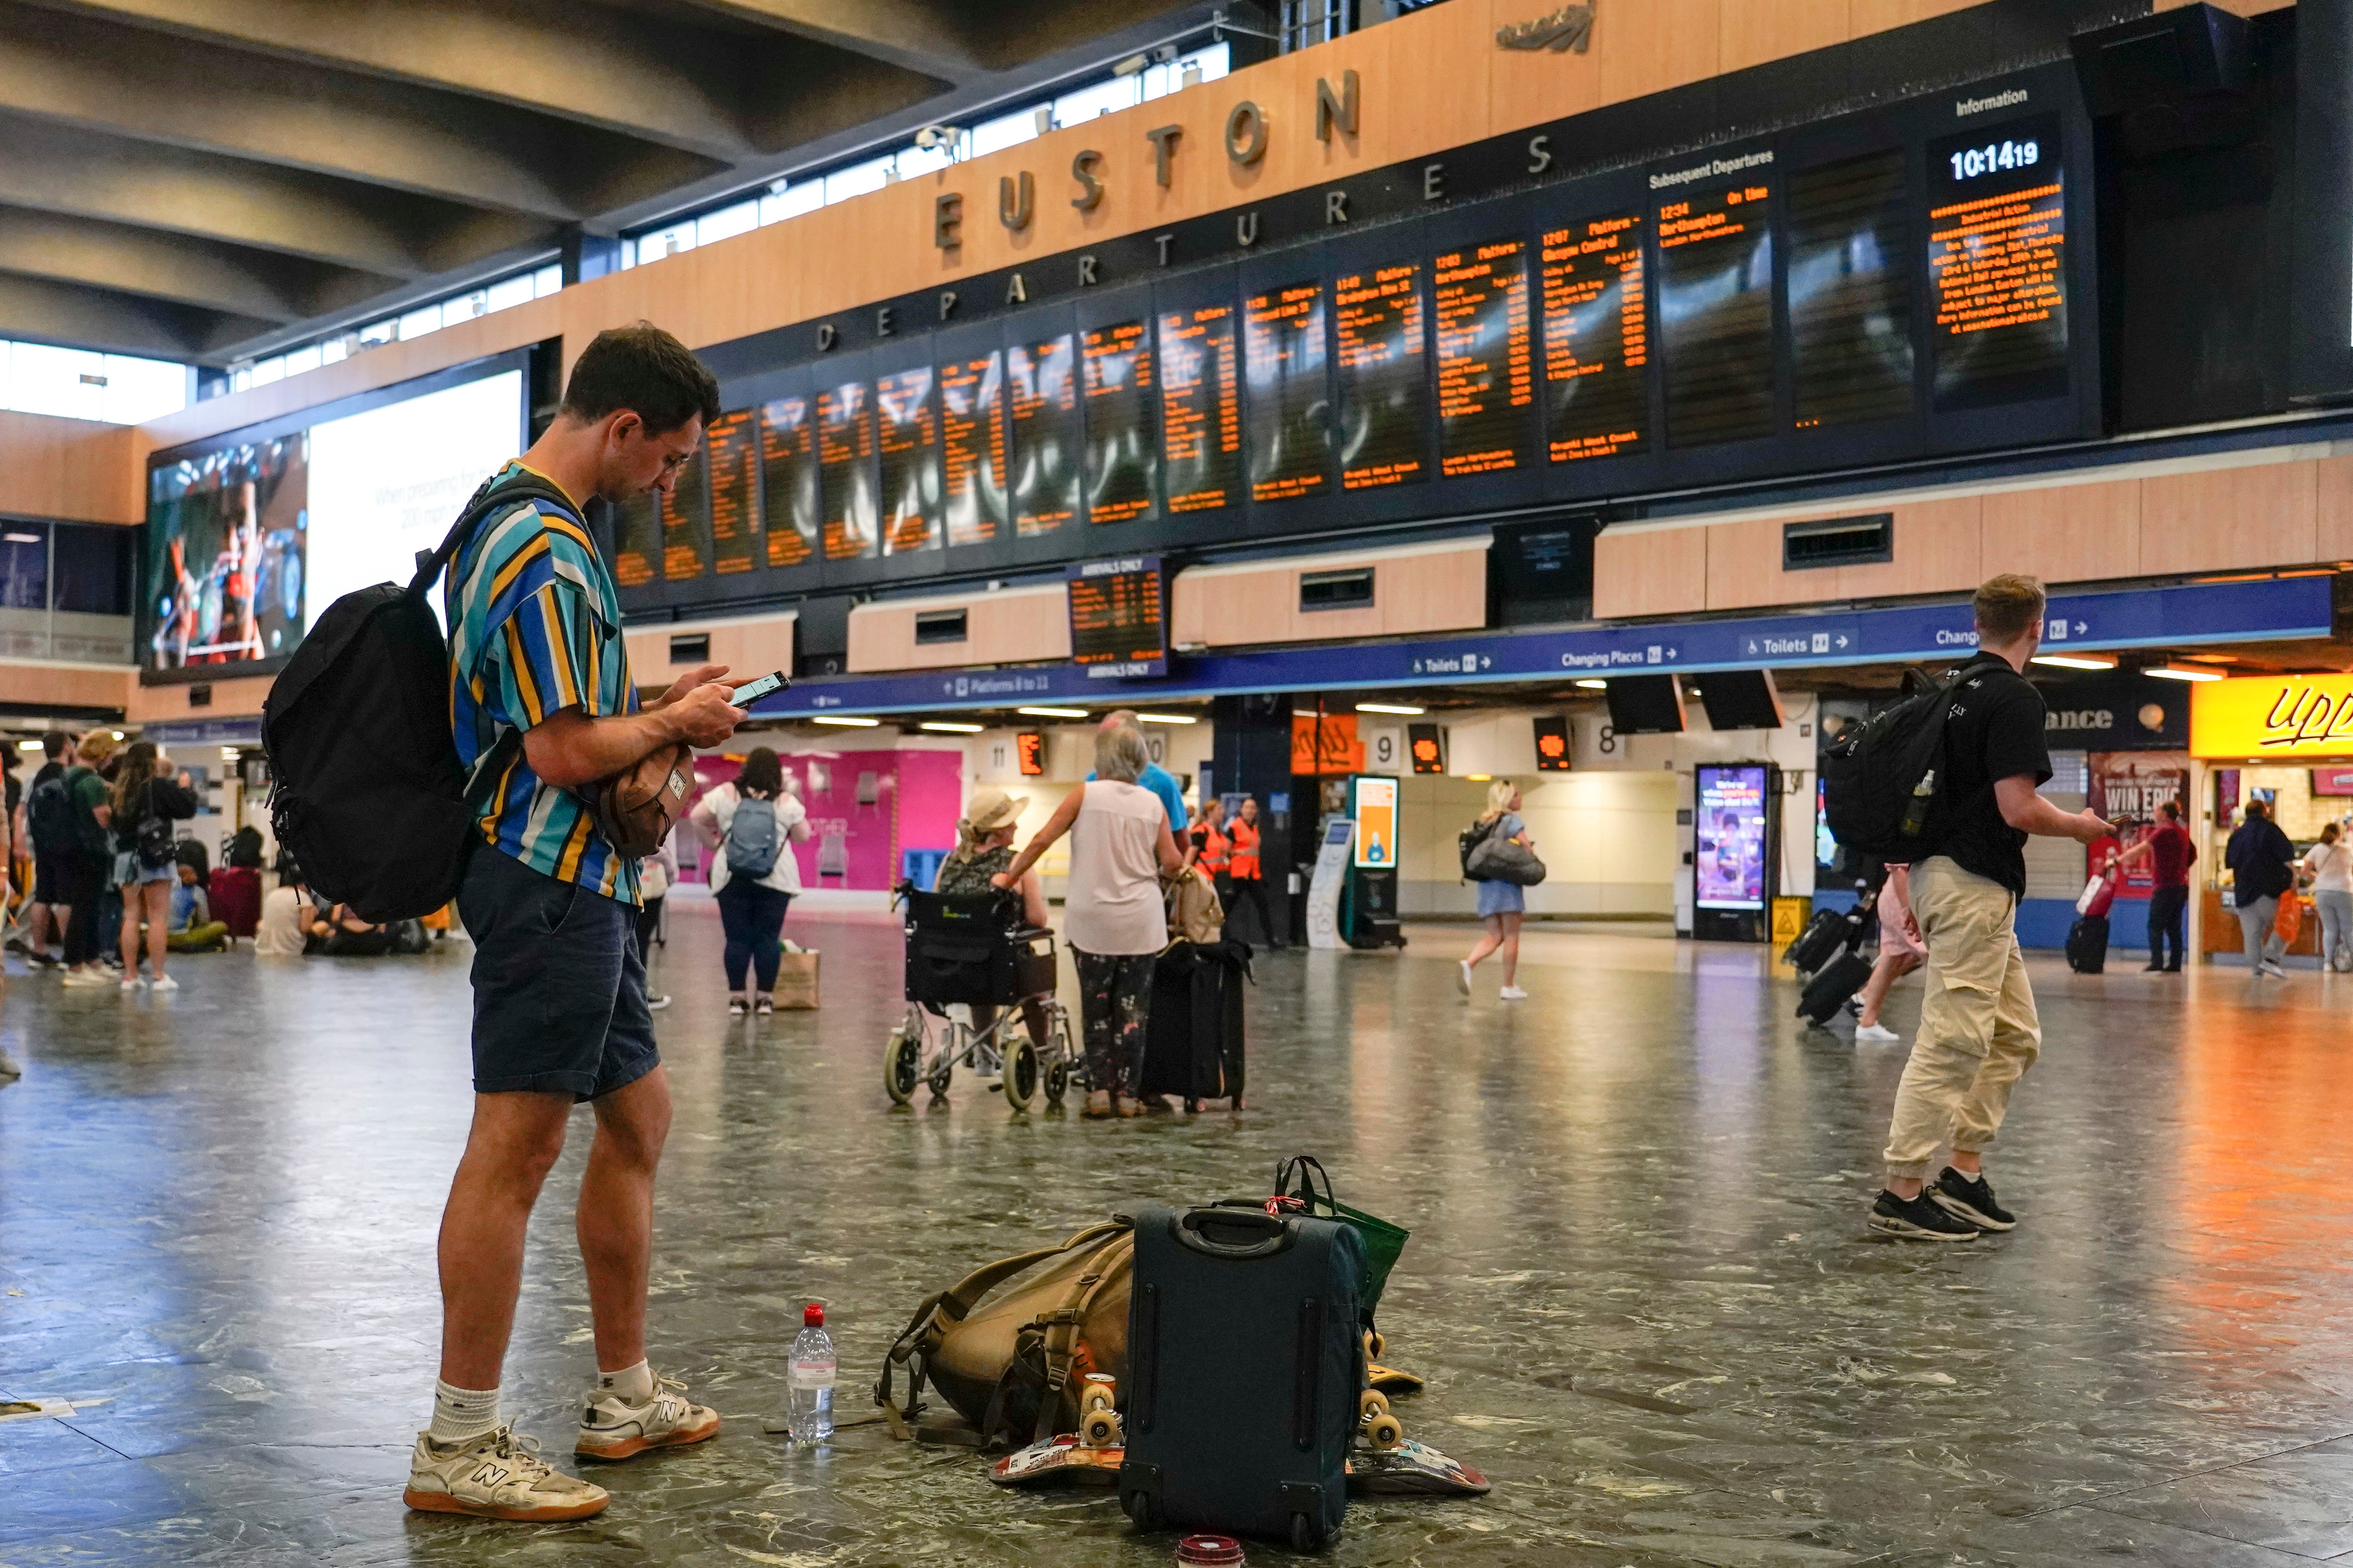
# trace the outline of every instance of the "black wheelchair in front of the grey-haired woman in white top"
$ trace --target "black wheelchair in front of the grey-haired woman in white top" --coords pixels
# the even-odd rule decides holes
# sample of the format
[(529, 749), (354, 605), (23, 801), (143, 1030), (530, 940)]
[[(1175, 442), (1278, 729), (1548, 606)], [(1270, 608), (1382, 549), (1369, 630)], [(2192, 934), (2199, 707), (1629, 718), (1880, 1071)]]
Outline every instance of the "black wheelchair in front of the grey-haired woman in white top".
[[(1005, 1103), (1028, 1110), (1045, 1091), (1061, 1105), (1071, 1084), (1085, 1088), (1085, 1058), (1071, 1046), (1071, 1013), (1054, 999), (1054, 933), (1021, 919), (1012, 891), (984, 896), (922, 893), (901, 882), (906, 905), (906, 1020), (882, 1048), (882, 1088), (894, 1105), (929, 1086), (948, 1093), (958, 1067), (998, 1077)], [(1045, 1009), (1047, 1048), (1028, 1037), (1021, 1001)], [(988, 1004), (995, 1023), (974, 1030), (951, 1006)]]

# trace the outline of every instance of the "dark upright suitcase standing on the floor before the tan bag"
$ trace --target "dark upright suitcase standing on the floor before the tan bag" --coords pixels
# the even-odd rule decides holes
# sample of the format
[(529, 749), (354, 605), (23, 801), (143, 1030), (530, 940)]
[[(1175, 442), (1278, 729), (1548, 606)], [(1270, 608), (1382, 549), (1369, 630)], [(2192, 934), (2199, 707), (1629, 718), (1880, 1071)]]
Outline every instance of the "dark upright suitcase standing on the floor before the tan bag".
[(1136, 1211), (1120, 1505), (1141, 1528), (1287, 1540), (1348, 1512), (1365, 1244), (1259, 1208)]

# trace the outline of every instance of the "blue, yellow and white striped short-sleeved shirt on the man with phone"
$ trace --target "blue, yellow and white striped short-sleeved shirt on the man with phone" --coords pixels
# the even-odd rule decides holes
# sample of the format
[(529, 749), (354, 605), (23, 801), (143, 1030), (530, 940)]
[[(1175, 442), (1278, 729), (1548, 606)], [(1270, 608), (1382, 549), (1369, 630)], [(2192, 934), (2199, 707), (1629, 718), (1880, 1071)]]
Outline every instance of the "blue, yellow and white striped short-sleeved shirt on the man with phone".
[[(499, 477), (515, 473), (522, 463)], [(591, 719), (638, 712), (621, 597), (576, 510), (529, 501), (482, 520), (449, 564), (442, 604), (449, 729), (468, 771), (506, 731), (534, 729), (565, 708)], [(520, 748), (499, 771), (480, 827), (485, 844), (536, 872), (638, 903), (638, 863), (612, 853), (588, 806), (541, 783)]]

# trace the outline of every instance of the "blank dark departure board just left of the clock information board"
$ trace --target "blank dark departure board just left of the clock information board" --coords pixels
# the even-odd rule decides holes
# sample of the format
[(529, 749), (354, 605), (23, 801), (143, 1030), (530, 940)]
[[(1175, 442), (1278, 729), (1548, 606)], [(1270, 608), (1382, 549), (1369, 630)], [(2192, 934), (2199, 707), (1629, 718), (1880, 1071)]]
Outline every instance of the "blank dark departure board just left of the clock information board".
[(1913, 411), (1904, 148), (1788, 179), (1788, 334), (1800, 430)]

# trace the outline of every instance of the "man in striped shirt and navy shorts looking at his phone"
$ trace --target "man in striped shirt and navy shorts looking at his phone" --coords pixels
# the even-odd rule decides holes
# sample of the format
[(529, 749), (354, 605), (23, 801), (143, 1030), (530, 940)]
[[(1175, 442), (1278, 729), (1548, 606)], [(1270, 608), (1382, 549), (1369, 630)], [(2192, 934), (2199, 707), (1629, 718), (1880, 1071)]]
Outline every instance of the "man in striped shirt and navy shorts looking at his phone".
[[(720, 411), (718, 383), (678, 339), (600, 334), (565, 404), (499, 482), (525, 475), (567, 503), (518, 496), (449, 564), (449, 722), (459, 757), (492, 771), (482, 844), (459, 914), (473, 957), (473, 1128), (442, 1211), (442, 1361), (433, 1425), (416, 1434), (407, 1505), (480, 1519), (586, 1519), (605, 1488), (567, 1476), (499, 1415), (499, 1373), (522, 1284), (522, 1232), (572, 1105), (595, 1105), (581, 1178), (598, 1387), (574, 1453), (626, 1460), (699, 1443), (715, 1410), (654, 1375), (645, 1279), (654, 1168), (671, 1088), (635, 945), (638, 870), (581, 795), (661, 745), (718, 745), (744, 719), (706, 665), (638, 705), (621, 604), (581, 510), (668, 491)], [(501, 745), (508, 736), (520, 743)]]

